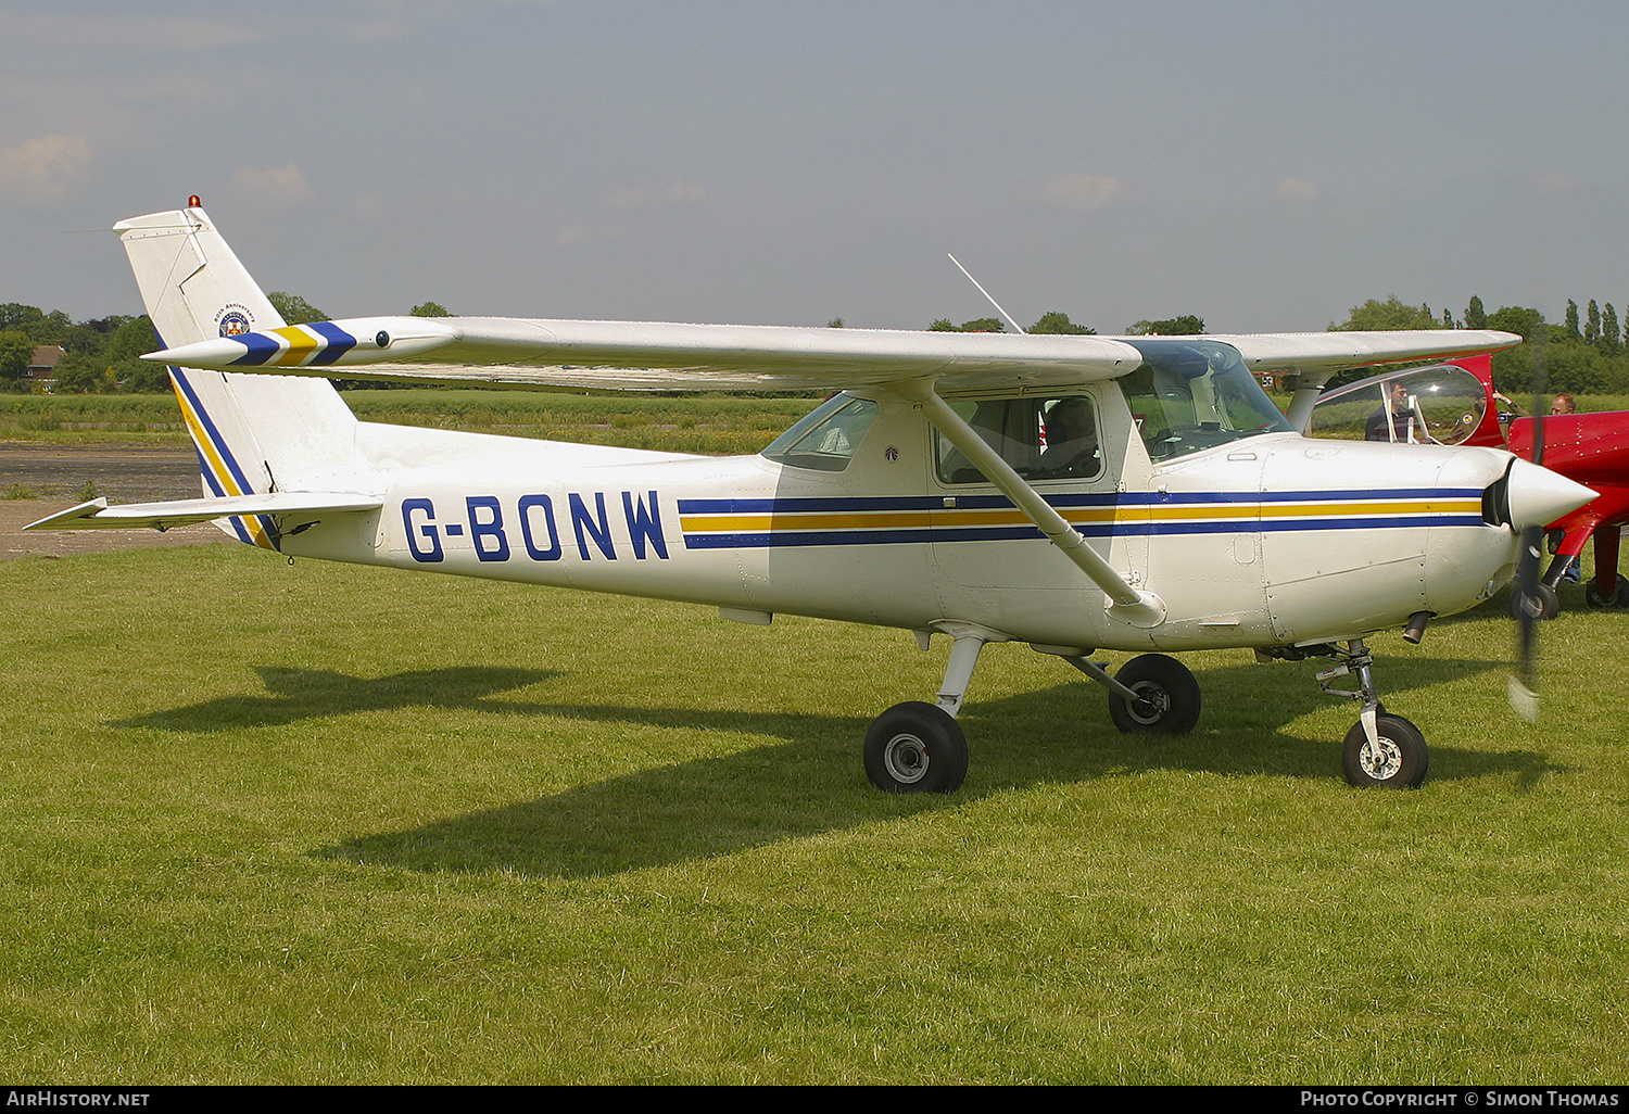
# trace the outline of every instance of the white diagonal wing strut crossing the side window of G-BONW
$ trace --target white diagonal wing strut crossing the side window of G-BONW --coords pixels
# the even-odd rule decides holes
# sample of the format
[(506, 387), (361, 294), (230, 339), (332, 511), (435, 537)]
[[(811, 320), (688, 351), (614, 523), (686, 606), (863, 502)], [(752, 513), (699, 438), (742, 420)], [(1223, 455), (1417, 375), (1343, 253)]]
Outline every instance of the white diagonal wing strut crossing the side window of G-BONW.
[(1013, 471), (1012, 464), (992, 450), (977, 430), (968, 425), (945, 399), (938, 397), (930, 379), (912, 379), (888, 388), (894, 394), (914, 402), (922, 409), (929, 423), (945, 435), (945, 440), (961, 450), (974, 467), (984, 472), (1002, 495), (1013, 502), (1025, 516), (1034, 523), (1036, 529), (1046, 534), (1047, 541), (1057, 546), (1087, 578), (1108, 594), (1113, 604), (1108, 614), (1134, 627), (1158, 627), (1165, 622), (1165, 604), (1148, 591), (1139, 591), (1126, 583), (1114, 568), (1098, 555), (1087, 539), (1070, 526), (1062, 515), (1052, 510), (1051, 503), (1041, 498), (1039, 492), (1025, 482), (1023, 476)]

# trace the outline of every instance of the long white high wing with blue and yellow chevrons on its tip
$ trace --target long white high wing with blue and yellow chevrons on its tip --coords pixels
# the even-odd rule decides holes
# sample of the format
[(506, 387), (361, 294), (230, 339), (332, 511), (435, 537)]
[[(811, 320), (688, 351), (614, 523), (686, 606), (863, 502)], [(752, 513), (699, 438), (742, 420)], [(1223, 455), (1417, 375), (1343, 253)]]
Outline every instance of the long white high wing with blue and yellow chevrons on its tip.
[[(1375, 363), (1520, 344), (1508, 332), (1212, 336), (1253, 371), (1323, 383)], [(1137, 368), (1135, 337), (899, 332), (512, 318), (357, 318), (246, 332), (155, 352), (187, 368), (536, 388), (832, 391), (911, 379), (940, 391), (1060, 388)], [(342, 368), (342, 371), (340, 371)]]

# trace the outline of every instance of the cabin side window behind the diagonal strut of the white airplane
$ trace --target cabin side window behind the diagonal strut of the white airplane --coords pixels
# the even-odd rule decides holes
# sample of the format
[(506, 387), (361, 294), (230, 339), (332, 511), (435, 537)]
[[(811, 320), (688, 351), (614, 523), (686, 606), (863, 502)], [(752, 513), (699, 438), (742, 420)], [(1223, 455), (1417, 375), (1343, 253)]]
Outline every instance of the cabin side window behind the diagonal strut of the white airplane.
[[(1098, 412), (1083, 394), (953, 401), (951, 406), (1013, 471), (1031, 480), (1093, 479), (1103, 474)], [(933, 432), (943, 484), (987, 484), (955, 445)]]

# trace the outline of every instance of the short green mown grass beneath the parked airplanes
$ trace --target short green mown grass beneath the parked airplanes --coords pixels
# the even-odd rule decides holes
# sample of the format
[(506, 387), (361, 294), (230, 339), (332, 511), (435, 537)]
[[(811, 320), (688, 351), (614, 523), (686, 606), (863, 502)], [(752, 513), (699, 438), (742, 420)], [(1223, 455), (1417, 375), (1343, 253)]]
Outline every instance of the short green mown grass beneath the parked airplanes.
[[(1339, 774), (1313, 664), (1188, 655), (1117, 735), (990, 647), (951, 796), (867, 723), (904, 632), (296, 562), (0, 565), (0, 1077), (50, 1083), (1613, 1083), (1624, 624), (1377, 638), (1434, 743)], [(1103, 655), (1116, 664), (1126, 655)]]

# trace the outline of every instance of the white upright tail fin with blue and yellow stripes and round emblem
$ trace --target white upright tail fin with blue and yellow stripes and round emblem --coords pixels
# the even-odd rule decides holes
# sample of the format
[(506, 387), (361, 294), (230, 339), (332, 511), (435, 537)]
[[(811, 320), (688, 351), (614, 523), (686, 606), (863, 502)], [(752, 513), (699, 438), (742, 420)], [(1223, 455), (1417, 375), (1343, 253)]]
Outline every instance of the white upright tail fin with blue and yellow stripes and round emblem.
[[(165, 347), (283, 326), (202, 208), (132, 217), (114, 231)], [(357, 419), (326, 379), (182, 368), (169, 379), (205, 495), (327, 490), (353, 467)], [(270, 520), (231, 524), (241, 541), (275, 549)]]

